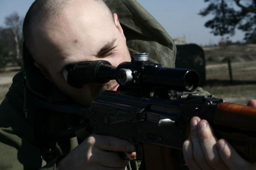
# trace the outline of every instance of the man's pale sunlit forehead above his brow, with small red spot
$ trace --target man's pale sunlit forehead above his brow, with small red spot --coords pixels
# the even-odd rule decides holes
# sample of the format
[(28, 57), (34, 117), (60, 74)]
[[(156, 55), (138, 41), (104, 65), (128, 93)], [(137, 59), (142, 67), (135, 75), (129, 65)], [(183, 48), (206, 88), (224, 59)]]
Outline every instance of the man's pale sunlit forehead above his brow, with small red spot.
[(44, 46), (48, 44), (52, 50), (46, 56), (54, 55), (49, 58), (51, 62), (90, 60), (85, 57), (96, 55), (99, 48), (117, 37), (113, 18), (102, 5), (94, 1), (74, 2), (77, 3), (70, 4), (42, 30), (47, 42)]

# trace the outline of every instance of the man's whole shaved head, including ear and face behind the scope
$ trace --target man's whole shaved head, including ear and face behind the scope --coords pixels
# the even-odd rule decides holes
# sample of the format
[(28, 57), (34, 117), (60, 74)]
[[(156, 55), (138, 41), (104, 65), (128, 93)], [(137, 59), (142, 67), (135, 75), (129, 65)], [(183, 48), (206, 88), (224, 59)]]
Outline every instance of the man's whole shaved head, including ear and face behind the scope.
[(115, 80), (70, 86), (63, 70), (70, 64), (106, 60), (113, 66), (131, 61), (117, 14), (102, 0), (37, 0), (24, 21), (24, 40), (44, 77), (76, 102), (90, 106), (102, 90), (116, 90)]

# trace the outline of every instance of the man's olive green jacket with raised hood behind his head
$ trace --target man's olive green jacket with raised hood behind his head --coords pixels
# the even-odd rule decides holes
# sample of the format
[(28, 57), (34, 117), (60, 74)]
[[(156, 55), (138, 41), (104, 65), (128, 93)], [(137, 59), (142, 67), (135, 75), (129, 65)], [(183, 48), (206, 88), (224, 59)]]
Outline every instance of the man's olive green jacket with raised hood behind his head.
[[(143, 7), (135, 0), (104, 2), (119, 15), (131, 54), (147, 52), (154, 62), (175, 66), (176, 46), (172, 38)], [(73, 101), (41, 75), (26, 45), (23, 58), (24, 71), (13, 78), (0, 106), (0, 169), (55, 169), (56, 162), (74, 149), (78, 140), (73, 137), (45, 145), (38, 140), (46, 131), (65, 128), (63, 122), (69, 118), (63, 115), (52, 118), (47, 111), (37, 112), (36, 101)]]

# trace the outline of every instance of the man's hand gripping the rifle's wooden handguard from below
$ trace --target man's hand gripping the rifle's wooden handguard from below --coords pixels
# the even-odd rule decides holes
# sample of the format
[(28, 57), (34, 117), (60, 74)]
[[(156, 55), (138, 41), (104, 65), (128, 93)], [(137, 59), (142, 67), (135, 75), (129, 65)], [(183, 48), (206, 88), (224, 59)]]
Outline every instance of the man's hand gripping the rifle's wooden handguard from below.
[[(256, 107), (256, 100), (248, 106)], [(189, 169), (256, 169), (255, 163), (244, 160), (224, 139), (218, 140), (206, 120), (193, 117), (190, 136), (183, 143)]]

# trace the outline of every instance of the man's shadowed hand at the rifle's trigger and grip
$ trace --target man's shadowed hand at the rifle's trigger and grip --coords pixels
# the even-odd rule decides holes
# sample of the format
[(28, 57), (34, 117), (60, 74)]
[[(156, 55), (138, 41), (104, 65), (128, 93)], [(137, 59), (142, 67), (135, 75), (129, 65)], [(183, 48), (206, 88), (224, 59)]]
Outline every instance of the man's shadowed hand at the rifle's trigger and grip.
[(135, 152), (135, 146), (127, 140), (92, 134), (60, 160), (56, 169), (125, 169), (129, 161), (118, 152)]

